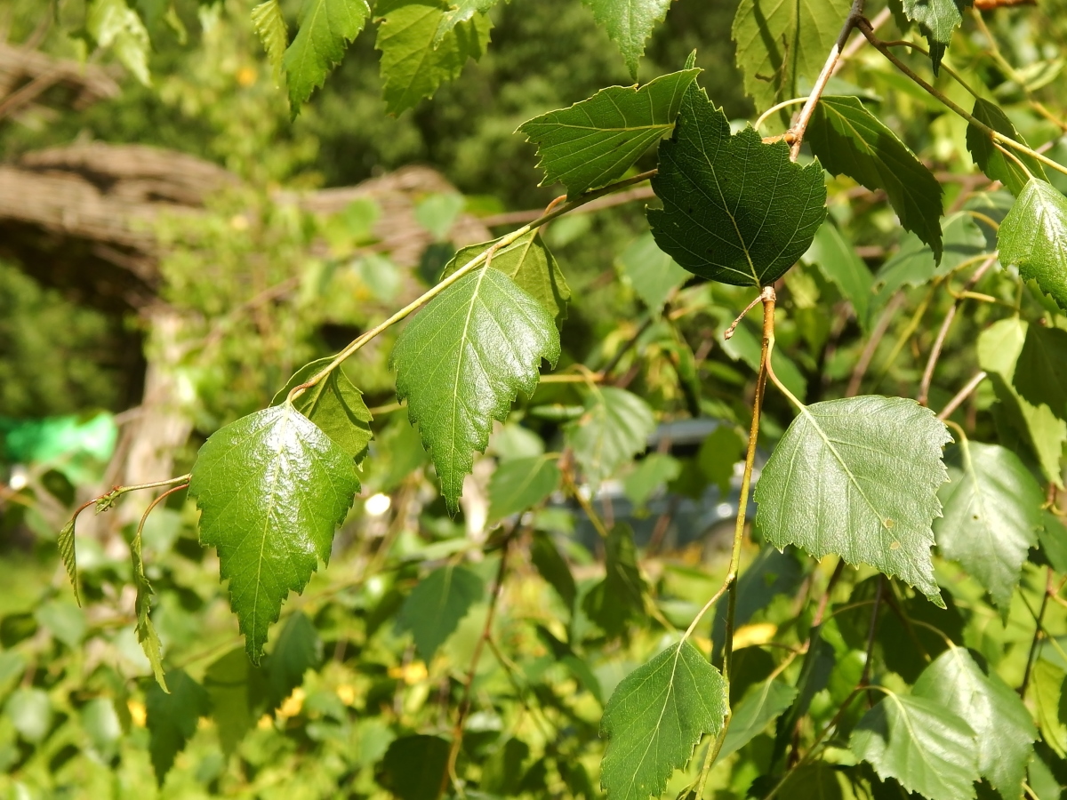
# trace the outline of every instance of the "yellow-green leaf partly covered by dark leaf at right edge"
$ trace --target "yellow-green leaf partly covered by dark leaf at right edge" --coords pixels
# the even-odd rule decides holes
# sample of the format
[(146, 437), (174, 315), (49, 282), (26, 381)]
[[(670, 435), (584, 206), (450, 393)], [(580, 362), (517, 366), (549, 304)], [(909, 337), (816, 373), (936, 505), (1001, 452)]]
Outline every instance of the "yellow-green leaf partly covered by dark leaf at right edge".
[(1014, 386), (1016, 364), (1029, 327), (1018, 317), (1010, 317), (983, 331), (978, 336), (978, 365), (989, 373), (1008, 423), (1036, 457), (1045, 479), (1062, 486), (1060, 460), (1067, 442), (1067, 422), (1049, 406), (1028, 402)]

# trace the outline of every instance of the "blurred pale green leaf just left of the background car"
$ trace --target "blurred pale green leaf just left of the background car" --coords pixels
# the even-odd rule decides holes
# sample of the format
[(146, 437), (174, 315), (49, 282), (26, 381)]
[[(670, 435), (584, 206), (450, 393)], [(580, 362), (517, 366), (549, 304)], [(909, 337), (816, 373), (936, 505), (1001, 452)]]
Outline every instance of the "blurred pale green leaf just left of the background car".
[(586, 478), (598, 485), (648, 447), (655, 419), (641, 398), (615, 386), (590, 389), (585, 407), (568, 425), (567, 443)]

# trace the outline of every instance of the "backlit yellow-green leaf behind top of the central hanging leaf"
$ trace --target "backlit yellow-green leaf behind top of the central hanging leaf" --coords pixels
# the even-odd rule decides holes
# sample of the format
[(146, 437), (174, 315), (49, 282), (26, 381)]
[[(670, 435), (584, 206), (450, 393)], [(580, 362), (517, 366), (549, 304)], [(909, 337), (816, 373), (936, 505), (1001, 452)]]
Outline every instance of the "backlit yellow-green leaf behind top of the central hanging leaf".
[[(463, 247), (455, 255), (442, 277), (448, 277), (463, 265), (481, 255), (493, 242)], [(515, 282), (515, 285), (538, 300), (545, 310), (556, 319), (560, 327), (567, 319), (567, 304), (571, 300), (571, 287), (567, 285), (559, 262), (536, 230), (520, 237), (511, 244), (493, 253), (490, 266)]]

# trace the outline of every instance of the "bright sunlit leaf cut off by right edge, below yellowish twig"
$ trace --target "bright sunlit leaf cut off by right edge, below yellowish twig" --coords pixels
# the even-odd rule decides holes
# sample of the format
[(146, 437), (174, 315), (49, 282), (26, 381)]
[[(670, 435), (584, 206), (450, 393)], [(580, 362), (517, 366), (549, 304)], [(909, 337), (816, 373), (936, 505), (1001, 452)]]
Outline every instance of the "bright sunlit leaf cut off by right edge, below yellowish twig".
[(1031, 178), (997, 233), (1002, 263), (1019, 268), (1067, 308), (1067, 197)]

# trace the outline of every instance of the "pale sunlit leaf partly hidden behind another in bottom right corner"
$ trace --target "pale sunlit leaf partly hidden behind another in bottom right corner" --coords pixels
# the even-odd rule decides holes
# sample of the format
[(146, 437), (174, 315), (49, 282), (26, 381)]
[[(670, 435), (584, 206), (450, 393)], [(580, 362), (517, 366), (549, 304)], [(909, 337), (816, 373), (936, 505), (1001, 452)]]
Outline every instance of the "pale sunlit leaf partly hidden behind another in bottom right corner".
[(913, 695), (962, 719), (976, 734), (978, 771), (1005, 800), (1022, 797), (1037, 731), (1019, 695), (986, 674), (962, 647), (950, 647), (923, 670)]

